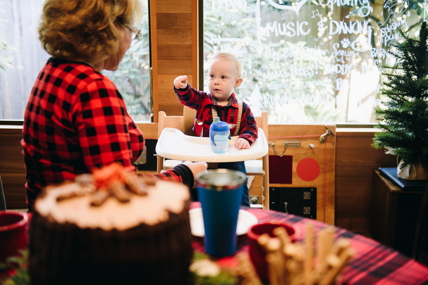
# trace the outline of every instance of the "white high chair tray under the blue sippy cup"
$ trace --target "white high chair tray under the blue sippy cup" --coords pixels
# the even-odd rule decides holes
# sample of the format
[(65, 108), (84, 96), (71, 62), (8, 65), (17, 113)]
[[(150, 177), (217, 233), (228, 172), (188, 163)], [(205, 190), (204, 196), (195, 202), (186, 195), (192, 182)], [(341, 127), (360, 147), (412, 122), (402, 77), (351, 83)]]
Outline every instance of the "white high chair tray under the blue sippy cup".
[(190, 160), (193, 162), (238, 162), (258, 159), (268, 151), (268, 141), (265, 133), (259, 128), (259, 138), (250, 148), (237, 150), (233, 145), (238, 136), (227, 140), (229, 149), (226, 153), (214, 153), (211, 149), (210, 138), (184, 135), (178, 129), (163, 129), (156, 144), (156, 153), (167, 159)]

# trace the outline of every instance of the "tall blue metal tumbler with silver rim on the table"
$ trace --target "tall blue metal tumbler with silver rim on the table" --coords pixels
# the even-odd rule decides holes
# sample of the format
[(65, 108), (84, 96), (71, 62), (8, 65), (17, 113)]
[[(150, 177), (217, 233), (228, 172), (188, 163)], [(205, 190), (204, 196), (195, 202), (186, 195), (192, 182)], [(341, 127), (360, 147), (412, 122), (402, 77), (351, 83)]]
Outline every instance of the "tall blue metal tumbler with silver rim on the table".
[(236, 250), (236, 225), (245, 179), (244, 173), (229, 169), (211, 169), (196, 175), (208, 254), (227, 256)]

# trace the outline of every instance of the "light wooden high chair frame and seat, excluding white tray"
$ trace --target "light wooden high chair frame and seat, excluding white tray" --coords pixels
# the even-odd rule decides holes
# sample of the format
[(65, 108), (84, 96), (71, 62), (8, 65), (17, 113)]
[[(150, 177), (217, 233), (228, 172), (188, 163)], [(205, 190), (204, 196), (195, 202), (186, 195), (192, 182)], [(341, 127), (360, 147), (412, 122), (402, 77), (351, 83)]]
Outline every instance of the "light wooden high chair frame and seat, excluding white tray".
[[(196, 136), (193, 132), (193, 124), (195, 120), (196, 110), (184, 106), (183, 116), (166, 116), (165, 112), (159, 112), (158, 121), (158, 138), (166, 127), (175, 128), (184, 133), (184, 135)], [(262, 117), (254, 117), (257, 126), (263, 130), (266, 139), (268, 138), (268, 113), (262, 112)], [(245, 169), (247, 175), (262, 176), (262, 205), (264, 209), (269, 209), (269, 153), (261, 158), (262, 160), (247, 160), (245, 161)], [(164, 168), (169, 169), (180, 164), (181, 161), (166, 160), (158, 155), (157, 172), (160, 173)]]

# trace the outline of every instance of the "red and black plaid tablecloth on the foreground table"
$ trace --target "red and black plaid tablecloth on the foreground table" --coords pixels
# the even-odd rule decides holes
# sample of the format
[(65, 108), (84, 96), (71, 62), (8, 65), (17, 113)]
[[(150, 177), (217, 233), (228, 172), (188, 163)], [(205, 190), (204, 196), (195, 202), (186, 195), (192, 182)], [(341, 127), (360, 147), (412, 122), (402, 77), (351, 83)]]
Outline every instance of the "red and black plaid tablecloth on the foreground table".
[[(200, 207), (199, 202), (194, 202), (190, 208)], [(300, 230), (298, 241), (303, 241), (305, 225), (311, 223), (315, 226), (315, 233), (329, 225), (304, 217), (285, 214), (276, 211), (262, 209), (248, 209), (254, 214), (259, 223), (270, 220), (280, 220), (292, 224)], [(350, 238), (351, 246), (355, 250), (355, 256), (351, 263), (342, 271), (342, 284), (349, 285), (422, 285), (428, 284), (428, 267), (420, 264), (396, 250), (386, 247), (377, 241), (348, 232), (345, 229), (336, 228), (336, 237)], [(198, 252), (204, 252), (203, 239), (194, 237), (193, 248)], [(247, 236), (238, 238), (238, 252), (248, 251)], [(222, 267), (235, 267), (237, 261), (233, 256), (226, 256), (217, 261)]]

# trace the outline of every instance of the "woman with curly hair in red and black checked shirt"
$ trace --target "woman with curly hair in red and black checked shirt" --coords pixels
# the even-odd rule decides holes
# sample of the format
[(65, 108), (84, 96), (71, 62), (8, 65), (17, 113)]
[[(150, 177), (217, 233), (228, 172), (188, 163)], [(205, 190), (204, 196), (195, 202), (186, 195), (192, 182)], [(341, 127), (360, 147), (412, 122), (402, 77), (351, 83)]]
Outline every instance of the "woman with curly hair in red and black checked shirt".
[[(135, 169), (143, 134), (101, 71), (119, 68), (141, 14), (139, 0), (45, 1), (39, 38), (52, 57), (34, 83), (21, 140), (30, 210), (46, 185), (113, 162)], [(155, 177), (192, 186), (204, 169), (185, 162)]]

